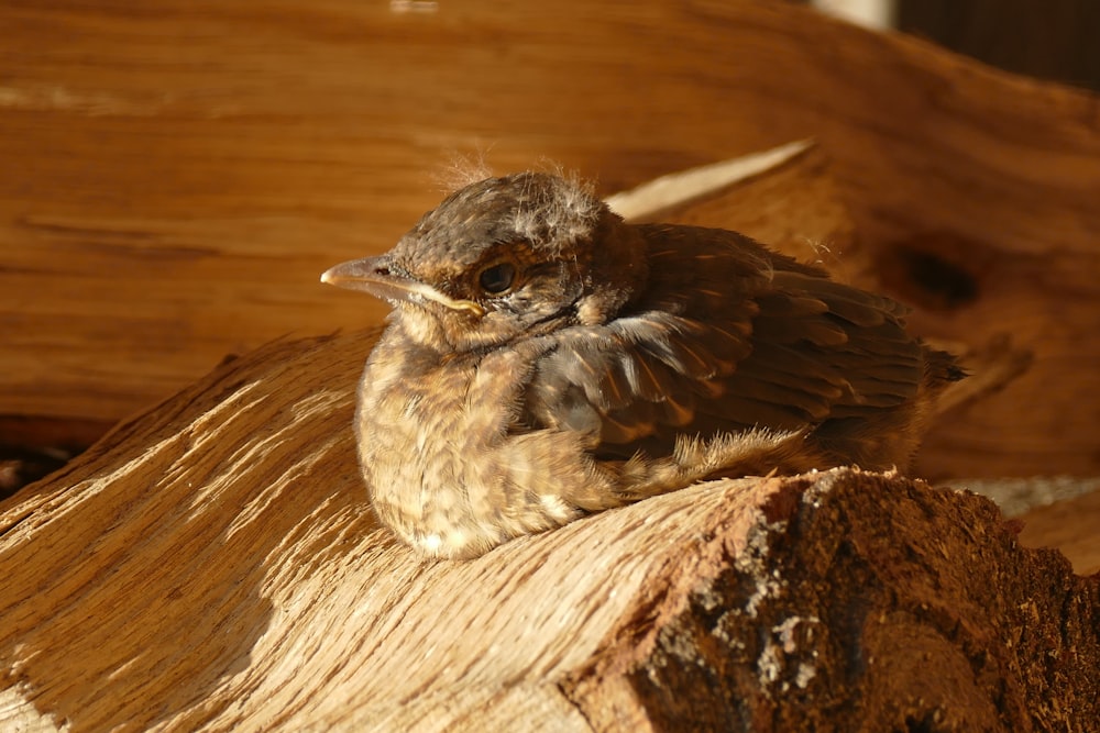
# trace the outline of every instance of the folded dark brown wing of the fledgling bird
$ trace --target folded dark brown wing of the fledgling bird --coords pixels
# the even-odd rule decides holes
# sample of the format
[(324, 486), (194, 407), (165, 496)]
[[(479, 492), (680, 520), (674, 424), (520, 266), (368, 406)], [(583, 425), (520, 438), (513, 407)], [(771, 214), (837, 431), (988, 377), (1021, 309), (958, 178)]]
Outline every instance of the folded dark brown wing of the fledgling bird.
[(920, 384), (921, 346), (903, 308), (817, 274), (774, 271), (705, 318), (686, 310), (556, 333), (528, 386), (526, 420), (602, 444), (670, 444), (676, 433), (859, 417)]

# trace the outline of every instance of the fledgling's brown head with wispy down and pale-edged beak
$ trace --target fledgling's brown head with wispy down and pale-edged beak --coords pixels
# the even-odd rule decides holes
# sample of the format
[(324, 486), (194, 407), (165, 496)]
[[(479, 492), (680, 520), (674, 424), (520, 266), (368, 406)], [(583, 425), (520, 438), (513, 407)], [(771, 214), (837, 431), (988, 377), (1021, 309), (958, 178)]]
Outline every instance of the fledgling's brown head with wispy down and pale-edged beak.
[(604, 323), (647, 276), (640, 236), (586, 187), (521, 173), (455, 191), (388, 253), (321, 281), (388, 301), (418, 343), (465, 352)]

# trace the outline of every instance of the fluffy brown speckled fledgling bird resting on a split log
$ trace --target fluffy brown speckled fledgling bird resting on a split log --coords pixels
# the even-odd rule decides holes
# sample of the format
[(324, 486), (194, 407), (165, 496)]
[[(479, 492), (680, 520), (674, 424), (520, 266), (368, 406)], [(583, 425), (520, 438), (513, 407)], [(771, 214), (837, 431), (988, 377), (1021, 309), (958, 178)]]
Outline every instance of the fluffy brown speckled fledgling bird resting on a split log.
[(470, 184), (321, 281), (392, 308), (354, 433), (376, 517), (427, 558), (716, 477), (904, 469), (965, 376), (901, 303), (733, 231), (627, 223), (575, 176)]

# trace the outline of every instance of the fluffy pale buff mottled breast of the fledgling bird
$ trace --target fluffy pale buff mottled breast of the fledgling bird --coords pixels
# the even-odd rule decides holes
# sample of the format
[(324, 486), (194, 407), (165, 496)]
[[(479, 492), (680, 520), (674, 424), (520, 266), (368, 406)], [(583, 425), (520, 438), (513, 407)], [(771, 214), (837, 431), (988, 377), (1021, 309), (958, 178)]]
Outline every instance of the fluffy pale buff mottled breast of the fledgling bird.
[(444, 357), (380, 342), (360, 385), (360, 464), (376, 514), (406, 542), (472, 556), (575, 515), (516, 480), (537, 470), (509, 453), (534, 360), (522, 348)]

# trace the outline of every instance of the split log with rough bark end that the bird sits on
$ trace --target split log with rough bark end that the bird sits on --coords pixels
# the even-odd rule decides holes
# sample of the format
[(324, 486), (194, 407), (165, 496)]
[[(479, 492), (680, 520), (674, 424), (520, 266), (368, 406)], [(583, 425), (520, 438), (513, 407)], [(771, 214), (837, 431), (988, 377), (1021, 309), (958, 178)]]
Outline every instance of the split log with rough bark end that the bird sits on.
[(0, 503), (0, 730), (1085, 730), (1096, 578), (838, 469), (418, 559), (349, 432), (373, 333), (279, 342)]

